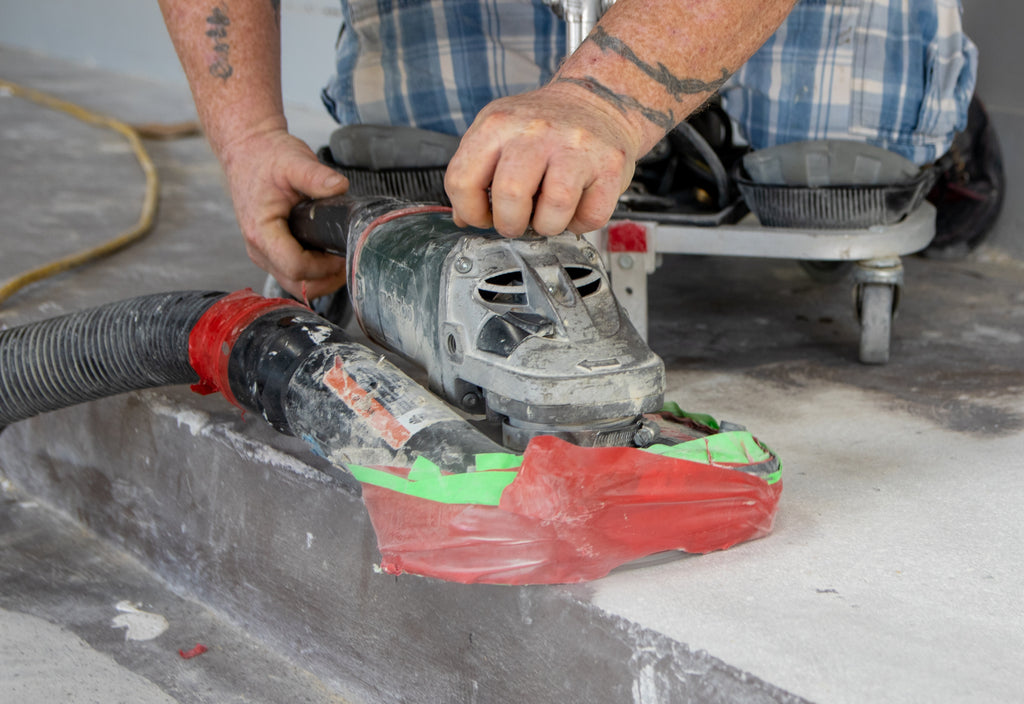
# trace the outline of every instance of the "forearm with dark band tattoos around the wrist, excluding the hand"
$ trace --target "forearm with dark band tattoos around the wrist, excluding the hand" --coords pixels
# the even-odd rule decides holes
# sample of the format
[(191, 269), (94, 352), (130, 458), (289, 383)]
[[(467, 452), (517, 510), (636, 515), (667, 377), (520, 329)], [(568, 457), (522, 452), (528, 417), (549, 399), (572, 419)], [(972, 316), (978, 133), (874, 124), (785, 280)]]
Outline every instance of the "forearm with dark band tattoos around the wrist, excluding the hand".
[(618, 0), (552, 85), (624, 118), (645, 153), (771, 36), (795, 0)]

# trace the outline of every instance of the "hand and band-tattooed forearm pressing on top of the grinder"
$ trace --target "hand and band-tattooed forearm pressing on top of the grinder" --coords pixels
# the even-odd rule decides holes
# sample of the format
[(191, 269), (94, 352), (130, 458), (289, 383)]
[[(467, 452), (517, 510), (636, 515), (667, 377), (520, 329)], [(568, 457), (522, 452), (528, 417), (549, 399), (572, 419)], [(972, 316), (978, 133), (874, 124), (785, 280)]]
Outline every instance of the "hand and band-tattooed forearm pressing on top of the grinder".
[(603, 226), (636, 161), (718, 90), (794, 0), (618, 0), (545, 87), (484, 107), (449, 165), (456, 223)]

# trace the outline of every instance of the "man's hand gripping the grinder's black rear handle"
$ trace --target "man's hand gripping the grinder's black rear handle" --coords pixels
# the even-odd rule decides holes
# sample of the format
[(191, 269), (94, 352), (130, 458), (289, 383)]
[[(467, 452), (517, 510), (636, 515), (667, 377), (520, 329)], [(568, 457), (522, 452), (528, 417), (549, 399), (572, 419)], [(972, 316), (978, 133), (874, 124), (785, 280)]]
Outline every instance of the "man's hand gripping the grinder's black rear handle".
[(226, 145), (223, 162), (250, 259), (298, 298), (341, 288), (345, 260), (303, 249), (288, 229), (288, 215), (303, 199), (345, 192), (345, 177), (321, 164), (284, 124)]

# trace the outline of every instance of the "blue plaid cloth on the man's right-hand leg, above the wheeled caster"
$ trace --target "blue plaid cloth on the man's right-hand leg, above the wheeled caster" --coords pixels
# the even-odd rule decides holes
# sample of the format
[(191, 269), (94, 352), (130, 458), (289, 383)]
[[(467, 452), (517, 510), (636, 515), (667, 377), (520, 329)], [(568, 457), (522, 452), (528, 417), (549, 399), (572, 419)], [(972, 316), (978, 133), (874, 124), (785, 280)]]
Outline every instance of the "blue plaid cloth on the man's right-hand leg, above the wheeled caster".
[(966, 126), (977, 55), (959, 0), (802, 0), (723, 103), (755, 148), (856, 139), (927, 164)]

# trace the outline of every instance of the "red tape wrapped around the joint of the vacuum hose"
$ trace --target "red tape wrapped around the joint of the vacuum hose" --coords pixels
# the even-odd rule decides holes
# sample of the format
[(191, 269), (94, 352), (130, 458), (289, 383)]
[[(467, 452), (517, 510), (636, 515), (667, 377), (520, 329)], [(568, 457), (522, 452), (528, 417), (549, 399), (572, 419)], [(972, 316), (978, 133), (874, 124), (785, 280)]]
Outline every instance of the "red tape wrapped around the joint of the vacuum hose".
[(242, 332), (257, 318), (282, 308), (307, 310), (296, 301), (263, 298), (252, 289), (236, 291), (213, 304), (188, 335), (188, 362), (200, 379), (191, 390), (204, 395), (219, 391), (238, 406), (227, 379), (231, 348)]

